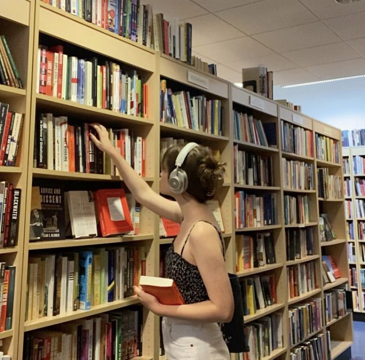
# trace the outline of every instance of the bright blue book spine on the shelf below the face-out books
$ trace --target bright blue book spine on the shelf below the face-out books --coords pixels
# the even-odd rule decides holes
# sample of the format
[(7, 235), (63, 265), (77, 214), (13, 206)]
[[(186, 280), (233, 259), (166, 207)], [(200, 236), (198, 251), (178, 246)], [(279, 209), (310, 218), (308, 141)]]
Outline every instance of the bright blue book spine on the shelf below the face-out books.
[(92, 251), (81, 251), (80, 264), (80, 309), (89, 310), (91, 306), (91, 274), (92, 274), (93, 253)]

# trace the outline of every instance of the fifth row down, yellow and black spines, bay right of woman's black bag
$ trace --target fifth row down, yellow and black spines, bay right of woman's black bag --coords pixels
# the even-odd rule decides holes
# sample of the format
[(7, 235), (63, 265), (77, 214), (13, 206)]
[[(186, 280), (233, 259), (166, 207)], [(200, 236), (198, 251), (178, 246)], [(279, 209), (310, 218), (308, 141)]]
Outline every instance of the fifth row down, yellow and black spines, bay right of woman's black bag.
[(243, 314), (254, 315), (257, 310), (277, 302), (275, 276), (264, 275), (243, 278)]

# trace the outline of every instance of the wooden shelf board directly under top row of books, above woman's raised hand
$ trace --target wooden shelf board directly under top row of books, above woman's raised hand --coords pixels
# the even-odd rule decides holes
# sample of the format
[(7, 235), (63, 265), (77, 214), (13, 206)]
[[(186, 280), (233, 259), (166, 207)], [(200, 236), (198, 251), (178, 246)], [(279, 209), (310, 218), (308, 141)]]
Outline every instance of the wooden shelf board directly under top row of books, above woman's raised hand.
[[(153, 125), (151, 119), (141, 118), (140, 116), (132, 116), (122, 114), (116, 111), (100, 109), (96, 106), (79, 104), (70, 100), (62, 100), (57, 97), (37, 94), (37, 106), (41, 105), (47, 109), (47, 112), (61, 112), (62, 115), (71, 114), (72, 116), (82, 116), (92, 122), (100, 122), (107, 126), (109, 124), (138, 124)], [(91, 121), (90, 121), (91, 122)]]

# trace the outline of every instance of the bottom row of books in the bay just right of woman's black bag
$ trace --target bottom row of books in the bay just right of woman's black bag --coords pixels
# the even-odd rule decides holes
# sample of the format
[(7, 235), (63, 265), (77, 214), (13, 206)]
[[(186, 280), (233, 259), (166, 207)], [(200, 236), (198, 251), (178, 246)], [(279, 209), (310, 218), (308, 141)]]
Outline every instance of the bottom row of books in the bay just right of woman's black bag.
[(283, 317), (279, 313), (263, 316), (244, 326), (249, 351), (240, 360), (260, 360), (284, 347)]

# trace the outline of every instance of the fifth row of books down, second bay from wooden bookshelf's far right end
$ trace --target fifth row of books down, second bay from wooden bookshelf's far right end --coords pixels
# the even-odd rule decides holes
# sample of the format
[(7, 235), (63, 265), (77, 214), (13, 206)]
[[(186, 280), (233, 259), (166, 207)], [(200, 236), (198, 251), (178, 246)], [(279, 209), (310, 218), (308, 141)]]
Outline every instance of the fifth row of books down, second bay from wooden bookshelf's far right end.
[(318, 288), (315, 263), (313, 261), (287, 267), (289, 299)]

